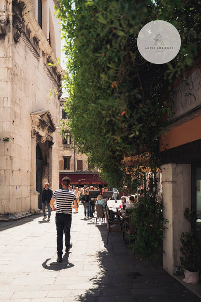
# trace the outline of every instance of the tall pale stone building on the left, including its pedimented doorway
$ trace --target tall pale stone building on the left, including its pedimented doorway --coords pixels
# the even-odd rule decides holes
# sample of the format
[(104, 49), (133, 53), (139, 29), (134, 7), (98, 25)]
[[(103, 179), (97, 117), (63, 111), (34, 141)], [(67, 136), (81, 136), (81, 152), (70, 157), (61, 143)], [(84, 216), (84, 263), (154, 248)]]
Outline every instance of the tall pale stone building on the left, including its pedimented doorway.
[(60, 57), (55, 4), (0, 0), (0, 219), (39, 212), (44, 182), (58, 188), (63, 71), (48, 65)]

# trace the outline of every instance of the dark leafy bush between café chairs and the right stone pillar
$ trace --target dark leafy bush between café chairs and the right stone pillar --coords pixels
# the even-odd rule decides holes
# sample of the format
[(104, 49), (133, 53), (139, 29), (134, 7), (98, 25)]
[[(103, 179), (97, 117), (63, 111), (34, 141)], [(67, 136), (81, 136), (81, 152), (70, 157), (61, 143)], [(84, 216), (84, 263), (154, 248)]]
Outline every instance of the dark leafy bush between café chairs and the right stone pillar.
[(130, 214), (135, 224), (135, 234), (132, 235), (134, 242), (130, 250), (137, 257), (158, 257), (162, 252), (163, 231), (168, 222), (163, 218), (162, 204), (153, 197), (145, 196), (135, 202), (135, 206)]

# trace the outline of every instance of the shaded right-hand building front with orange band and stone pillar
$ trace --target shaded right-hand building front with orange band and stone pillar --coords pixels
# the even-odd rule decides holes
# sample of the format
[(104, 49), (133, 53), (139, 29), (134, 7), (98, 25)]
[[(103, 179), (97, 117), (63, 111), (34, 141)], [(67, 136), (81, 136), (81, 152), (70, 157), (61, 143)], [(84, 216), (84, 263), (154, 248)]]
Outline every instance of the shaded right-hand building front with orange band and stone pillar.
[(172, 90), (175, 112), (167, 135), (160, 141), (164, 218), (168, 229), (163, 240), (163, 268), (173, 275), (180, 264), (180, 237), (189, 231), (186, 208), (197, 213), (196, 231), (201, 238), (201, 69), (193, 68), (185, 81)]

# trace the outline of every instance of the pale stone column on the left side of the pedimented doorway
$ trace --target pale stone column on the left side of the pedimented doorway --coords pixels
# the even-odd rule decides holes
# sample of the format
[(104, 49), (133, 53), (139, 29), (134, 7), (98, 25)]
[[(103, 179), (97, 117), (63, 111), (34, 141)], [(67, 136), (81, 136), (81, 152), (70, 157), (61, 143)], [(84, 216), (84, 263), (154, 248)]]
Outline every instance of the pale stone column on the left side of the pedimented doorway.
[(30, 211), (32, 214), (39, 214), (38, 208), (39, 192), (36, 191), (36, 133), (32, 131), (31, 135), (31, 190), (30, 190)]

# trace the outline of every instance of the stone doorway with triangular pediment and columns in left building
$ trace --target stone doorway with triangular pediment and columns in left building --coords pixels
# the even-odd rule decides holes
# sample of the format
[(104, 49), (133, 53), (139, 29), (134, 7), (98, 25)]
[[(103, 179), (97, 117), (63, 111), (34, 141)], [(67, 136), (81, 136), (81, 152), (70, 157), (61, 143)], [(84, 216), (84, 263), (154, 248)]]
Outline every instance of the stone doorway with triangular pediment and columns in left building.
[(31, 212), (38, 213), (42, 208), (44, 182), (52, 185), (52, 146), (53, 132), (56, 130), (48, 110), (31, 115)]

